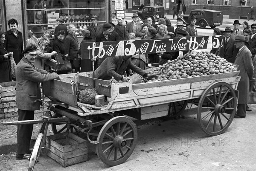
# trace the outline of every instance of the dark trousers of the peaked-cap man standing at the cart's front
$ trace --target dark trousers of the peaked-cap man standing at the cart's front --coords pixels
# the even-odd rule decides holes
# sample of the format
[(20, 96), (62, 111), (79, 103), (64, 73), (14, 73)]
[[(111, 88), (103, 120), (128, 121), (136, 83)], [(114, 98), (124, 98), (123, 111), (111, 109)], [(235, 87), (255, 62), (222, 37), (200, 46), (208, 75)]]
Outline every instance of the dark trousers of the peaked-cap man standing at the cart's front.
[[(18, 109), (18, 121), (33, 120), (34, 110)], [(33, 124), (18, 125), (17, 154), (29, 154), (29, 145), (33, 131)]]

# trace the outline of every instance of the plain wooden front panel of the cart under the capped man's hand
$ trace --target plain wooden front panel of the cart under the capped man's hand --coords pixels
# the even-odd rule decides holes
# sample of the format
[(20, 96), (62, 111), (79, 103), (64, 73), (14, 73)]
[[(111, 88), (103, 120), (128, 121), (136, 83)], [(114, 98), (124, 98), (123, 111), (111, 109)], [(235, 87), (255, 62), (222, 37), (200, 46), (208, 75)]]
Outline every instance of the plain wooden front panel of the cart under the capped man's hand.
[(51, 80), (43, 82), (43, 89), (45, 96), (53, 101), (61, 101), (72, 106), (77, 105), (75, 84)]

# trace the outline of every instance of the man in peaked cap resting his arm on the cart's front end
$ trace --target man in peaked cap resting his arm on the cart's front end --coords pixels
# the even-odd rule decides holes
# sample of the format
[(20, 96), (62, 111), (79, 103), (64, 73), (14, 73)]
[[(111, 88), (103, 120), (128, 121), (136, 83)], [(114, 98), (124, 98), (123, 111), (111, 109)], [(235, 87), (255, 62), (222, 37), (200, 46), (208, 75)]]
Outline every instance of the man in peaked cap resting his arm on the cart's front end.
[[(61, 80), (55, 72), (49, 73), (34, 66), (38, 50), (30, 45), (23, 50), (24, 57), (17, 64), (16, 71), (16, 104), (18, 108), (18, 121), (33, 120), (34, 110), (40, 109), (41, 99), (40, 82), (53, 79)], [(17, 154), (16, 159), (24, 159), (24, 154), (29, 154), (30, 139), (33, 124), (17, 126)]]

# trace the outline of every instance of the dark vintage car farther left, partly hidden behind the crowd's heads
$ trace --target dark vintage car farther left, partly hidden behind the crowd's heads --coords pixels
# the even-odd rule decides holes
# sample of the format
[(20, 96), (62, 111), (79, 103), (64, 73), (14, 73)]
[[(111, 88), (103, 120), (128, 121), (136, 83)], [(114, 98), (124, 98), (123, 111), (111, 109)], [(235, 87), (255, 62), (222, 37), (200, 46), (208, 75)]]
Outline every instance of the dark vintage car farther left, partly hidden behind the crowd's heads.
[(159, 18), (166, 18), (164, 16), (163, 6), (144, 6), (142, 10), (137, 12), (140, 19), (144, 22), (148, 17), (152, 18), (152, 22), (158, 22)]

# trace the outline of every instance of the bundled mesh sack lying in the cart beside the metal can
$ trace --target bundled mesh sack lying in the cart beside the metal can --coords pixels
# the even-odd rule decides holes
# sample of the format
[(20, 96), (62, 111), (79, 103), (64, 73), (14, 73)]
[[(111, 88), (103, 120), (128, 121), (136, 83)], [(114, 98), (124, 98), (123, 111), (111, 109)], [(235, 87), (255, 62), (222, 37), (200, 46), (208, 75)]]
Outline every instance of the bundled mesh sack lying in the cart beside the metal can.
[(96, 89), (85, 89), (79, 92), (79, 101), (86, 104), (95, 104)]

